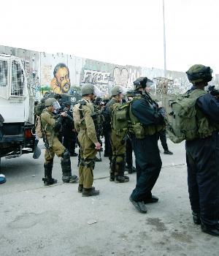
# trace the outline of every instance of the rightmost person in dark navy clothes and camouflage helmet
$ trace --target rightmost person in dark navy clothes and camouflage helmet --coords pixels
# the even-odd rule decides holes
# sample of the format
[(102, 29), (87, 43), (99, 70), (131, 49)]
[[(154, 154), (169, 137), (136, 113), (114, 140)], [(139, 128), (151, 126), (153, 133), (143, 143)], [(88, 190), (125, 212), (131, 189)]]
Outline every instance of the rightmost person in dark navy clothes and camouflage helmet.
[(193, 83), (188, 94), (196, 97), (198, 137), (185, 141), (193, 222), (201, 224), (203, 232), (219, 236), (219, 101), (217, 96), (204, 92), (212, 80), (210, 67), (196, 64), (186, 73)]

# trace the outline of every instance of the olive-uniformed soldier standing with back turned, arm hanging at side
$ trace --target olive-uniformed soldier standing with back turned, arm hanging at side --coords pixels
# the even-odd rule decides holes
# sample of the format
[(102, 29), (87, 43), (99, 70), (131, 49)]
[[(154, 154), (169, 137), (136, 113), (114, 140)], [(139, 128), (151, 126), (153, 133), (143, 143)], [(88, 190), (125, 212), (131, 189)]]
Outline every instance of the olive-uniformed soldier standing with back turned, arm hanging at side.
[(93, 118), (96, 118), (92, 103), (94, 98), (94, 86), (91, 84), (82, 86), (82, 99), (74, 105), (73, 110), (74, 127), (78, 132), (77, 138), (80, 143), (78, 192), (82, 192), (82, 197), (99, 195), (99, 190), (92, 187), (94, 159), (96, 151), (101, 148), (93, 121)]

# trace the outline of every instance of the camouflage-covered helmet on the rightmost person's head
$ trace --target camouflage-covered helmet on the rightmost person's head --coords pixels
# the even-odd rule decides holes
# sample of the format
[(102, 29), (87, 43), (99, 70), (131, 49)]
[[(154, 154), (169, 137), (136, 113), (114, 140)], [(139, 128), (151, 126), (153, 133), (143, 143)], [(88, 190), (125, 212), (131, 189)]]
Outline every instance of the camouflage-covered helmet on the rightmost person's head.
[(186, 72), (188, 76), (188, 80), (191, 83), (199, 83), (199, 82), (210, 82), (212, 80), (212, 72), (213, 70), (210, 67), (206, 67), (201, 64), (193, 65)]

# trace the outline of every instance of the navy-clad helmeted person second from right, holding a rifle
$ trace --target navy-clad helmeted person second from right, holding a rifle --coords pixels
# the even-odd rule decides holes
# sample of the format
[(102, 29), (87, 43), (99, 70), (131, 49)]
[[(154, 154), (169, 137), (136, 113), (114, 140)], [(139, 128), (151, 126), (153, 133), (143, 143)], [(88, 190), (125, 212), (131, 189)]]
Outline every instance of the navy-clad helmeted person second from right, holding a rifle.
[(151, 190), (161, 171), (158, 132), (164, 129), (164, 109), (158, 108), (147, 94), (148, 83), (153, 82), (146, 77), (134, 81), (134, 89), (141, 96), (132, 102), (130, 109), (134, 124), (130, 136), (136, 159), (137, 184), (129, 200), (143, 214), (147, 212), (145, 203), (158, 202), (158, 197), (153, 196)]

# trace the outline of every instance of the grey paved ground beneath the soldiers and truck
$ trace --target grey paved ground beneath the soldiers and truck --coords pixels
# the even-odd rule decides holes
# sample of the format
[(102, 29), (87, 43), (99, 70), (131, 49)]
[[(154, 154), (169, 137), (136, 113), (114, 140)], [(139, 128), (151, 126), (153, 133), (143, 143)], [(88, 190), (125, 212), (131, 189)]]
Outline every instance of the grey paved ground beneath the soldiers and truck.
[[(58, 184), (44, 187), (44, 149), (39, 159), (2, 159), (7, 183), (0, 185), (0, 255), (218, 255), (218, 238), (192, 222), (184, 145), (168, 143), (174, 155), (161, 151), (163, 167), (153, 189), (160, 200), (147, 205), (147, 214), (128, 200), (135, 175), (126, 184), (110, 182), (107, 158), (96, 163), (98, 197), (81, 197), (77, 184), (63, 184), (57, 157)], [(77, 159), (71, 159), (77, 173)]]

